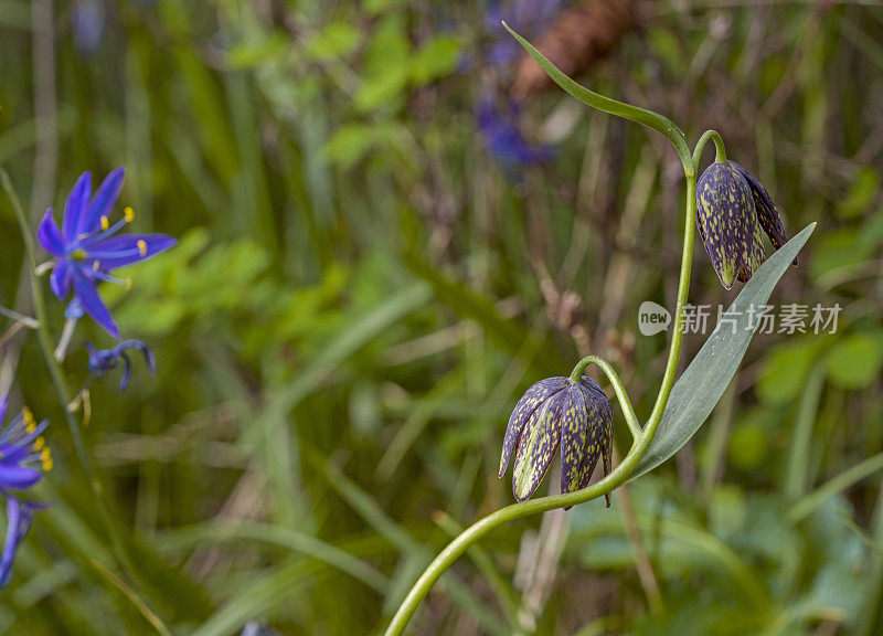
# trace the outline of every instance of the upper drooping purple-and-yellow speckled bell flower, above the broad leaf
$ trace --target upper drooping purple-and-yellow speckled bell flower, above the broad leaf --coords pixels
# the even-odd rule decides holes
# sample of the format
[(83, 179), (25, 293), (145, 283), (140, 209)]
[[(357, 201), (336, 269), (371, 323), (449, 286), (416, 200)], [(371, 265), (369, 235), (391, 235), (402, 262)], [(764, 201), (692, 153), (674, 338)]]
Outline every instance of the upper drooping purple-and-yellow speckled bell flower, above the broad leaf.
[(726, 289), (736, 279), (747, 283), (763, 265), (764, 233), (776, 250), (788, 241), (773, 198), (735, 161), (715, 161), (699, 178), (696, 225)]

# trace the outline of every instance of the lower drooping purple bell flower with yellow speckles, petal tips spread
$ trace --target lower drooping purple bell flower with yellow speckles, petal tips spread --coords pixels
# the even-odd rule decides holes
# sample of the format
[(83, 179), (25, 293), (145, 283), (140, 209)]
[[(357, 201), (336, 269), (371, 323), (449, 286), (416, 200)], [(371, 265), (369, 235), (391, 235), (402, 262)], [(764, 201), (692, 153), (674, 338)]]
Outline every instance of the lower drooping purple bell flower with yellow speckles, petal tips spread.
[[(588, 486), (598, 457), (604, 475), (613, 459), (614, 412), (610, 401), (592, 378), (541, 380), (519, 400), (503, 438), (499, 477), (515, 452), (512, 491), (515, 499), (529, 499), (540, 486), (552, 458), (561, 447), (561, 491)], [(610, 505), (610, 496), (607, 506)]]

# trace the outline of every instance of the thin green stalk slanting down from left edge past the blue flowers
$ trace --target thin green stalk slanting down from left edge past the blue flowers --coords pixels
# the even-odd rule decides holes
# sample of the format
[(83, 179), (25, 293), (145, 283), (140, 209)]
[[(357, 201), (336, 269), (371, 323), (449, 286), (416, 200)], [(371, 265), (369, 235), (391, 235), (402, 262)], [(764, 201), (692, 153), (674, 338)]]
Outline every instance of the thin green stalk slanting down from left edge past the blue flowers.
[[(119, 564), (123, 566), (124, 571), (129, 575), (129, 577), (142, 587), (139, 583), (139, 577), (137, 576), (137, 570), (135, 564), (129, 555), (129, 552), (126, 548), (125, 542), (120, 536), (119, 528), (117, 528), (116, 522), (114, 521), (113, 516), (110, 515), (109, 506), (106, 500), (104, 486), (99, 479), (98, 473), (95, 470), (94, 465), (95, 462), (93, 460), (89, 451), (85, 443), (83, 442), (83, 433), (79, 428), (79, 422), (76, 421), (74, 413), (68, 409), (71, 404), (71, 391), (67, 386), (67, 380), (64, 377), (64, 372), (62, 371), (61, 365), (55, 360), (55, 356), (53, 353), (52, 340), (49, 335), (49, 327), (47, 327), (47, 314), (46, 307), (43, 296), (43, 289), (40, 286), (40, 279), (38, 278), (34, 271), (38, 266), (36, 261), (36, 244), (34, 242), (34, 237), (31, 234), (31, 227), (28, 223), (28, 220), (24, 215), (24, 210), (21, 206), (21, 202), (19, 201), (19, 197), (15, 193), (15, 190), (12, 186), (12, 181), (9, 178), (7, 171), (0, 168), (0, 187), (2, 187), (3, 191), (9, 199), (9, 202), (12, 205), (12, 210), (15, 213), (15, 218), (19, 222), (19, 229), (21, 230), (22, 240), (24, 241), (24, 251), (26, 254), (26, 262), (29, 266), (29, 278), (31, 282), (31, 296), (34, 305), (34, 314), (36, 320), (39, 322), (39, 327), (36, 328), (36, 336), (38, 340), (40, 341), (40, 350), (43, 353), (43, 360), (46, 363), (46, 368), (49, 369), (50, 375), (52, 378), (52, 384), (55, 389), (55, 393), (58, 398), (58, 401), (62, 404), (62, 411), (64, 412), (64, 418), (67, 423), (67, 428), (71, 432), (71, 438), (74, 442), (74, 449), (76, 451), (77, 458), (79, 459), (79, 465), (83, 467), (83, 471), (86, 475), (86, 479), (92, 487), (92, 491), (95, 495), (96, 502), (98, 504), (98, 510), (100, 512), (102, 521), (107, 529), (108, 537), (110, 539), (111, 544), (114, 545), (114, 551), (117, 555)], [(135, 593), (135, 592), (132, 592)], [(142, 605), (145, 607), (149, 607), (149, 605), (143, 602), (143, 600), (139, 601), (139, 606)], [(151, 611), (152, 613), (152, 611)], [(153, 622), (151, 621), (151, 624)], [(158, 632), (163, 636), (171, 636), (171, 632), (168, 627), (160, 621), (158, 623), (159, 628)], [(157, 625), (155, 625), (156, 627)]]

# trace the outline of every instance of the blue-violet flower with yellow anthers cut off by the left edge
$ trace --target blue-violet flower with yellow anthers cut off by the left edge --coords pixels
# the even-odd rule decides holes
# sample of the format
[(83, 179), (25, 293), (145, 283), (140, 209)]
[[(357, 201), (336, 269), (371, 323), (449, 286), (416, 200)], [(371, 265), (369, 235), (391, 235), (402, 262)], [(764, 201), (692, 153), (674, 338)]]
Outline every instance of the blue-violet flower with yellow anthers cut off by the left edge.
[(47, 421), (38, 424), (24, 409), (9, 425), (3, 425), (7, 396), (0, 400), (0, 492), (7, 498), (7, 537), (0, 554), (0, 587), (12, 576), (15, 551), (21, 544), (35, 510), (43, 505), (21, 501), (12, 491), (35, 486), (50, 469), (52, 454), (43, 438)]

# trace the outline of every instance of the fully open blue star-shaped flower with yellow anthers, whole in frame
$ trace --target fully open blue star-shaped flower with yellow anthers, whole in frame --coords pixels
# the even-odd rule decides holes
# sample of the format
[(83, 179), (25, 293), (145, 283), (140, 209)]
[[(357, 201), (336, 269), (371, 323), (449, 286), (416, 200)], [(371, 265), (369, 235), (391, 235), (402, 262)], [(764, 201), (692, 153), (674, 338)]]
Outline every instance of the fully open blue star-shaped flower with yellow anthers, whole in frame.
[(77, 179), (64, 206), (63, 230), (58, 229), (46, 211), (38, 230), (43, 250), (55, 256), (55, 266), (50, 285), (52, 292), (63, 300), (73, 288), (74, 298), (67, 306), (66, 316), (78, 319), (88, 314), (114, 338), (119, 338), (110, 311), (98, 296), (100, 280), (127, 285), (127, 280), (115, 278), (110, 272), (132, 265), (164, 252), (175, 244), (166, 234), (115, 234), (135, 216), (126, 208), (123, 219), (110, 224), (110, 212), (123, 188), (125, 170), (117, 168), (92, 195), (92, 174), (84, 172)]

